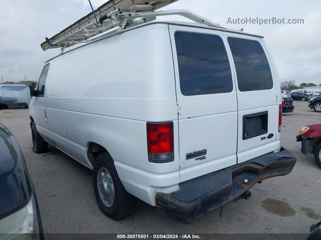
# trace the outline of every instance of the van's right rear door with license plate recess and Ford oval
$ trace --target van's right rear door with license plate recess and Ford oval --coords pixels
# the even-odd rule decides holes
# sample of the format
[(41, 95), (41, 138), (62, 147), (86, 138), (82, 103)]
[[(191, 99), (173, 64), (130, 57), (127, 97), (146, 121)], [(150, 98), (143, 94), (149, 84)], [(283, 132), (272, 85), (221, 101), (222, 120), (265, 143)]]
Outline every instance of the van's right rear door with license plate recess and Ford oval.
[[(238, 163), (280, 147), (280, 85), (259, 37), (224, 32), (233, 59), (238, 99)], [(273, 67), (272, 67), (273, 66)]]

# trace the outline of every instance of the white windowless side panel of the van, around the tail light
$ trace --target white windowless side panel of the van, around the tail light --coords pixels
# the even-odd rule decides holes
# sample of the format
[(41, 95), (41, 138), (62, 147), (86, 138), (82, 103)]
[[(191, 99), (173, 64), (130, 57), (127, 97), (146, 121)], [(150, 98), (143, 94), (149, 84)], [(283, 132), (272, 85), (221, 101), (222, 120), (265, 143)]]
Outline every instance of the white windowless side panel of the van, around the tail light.
[[(53, 59), (50, 68), (46, 107), (57, 148), (92, 168), (88, 145), (102, 145), (126, 190), (149, 204), (155, 205), (157, 187), (177, 189), (177, 101), (167, 24), (75, 49)], [(148, 161), (148, 121), (174, 122), (174, 161)]]

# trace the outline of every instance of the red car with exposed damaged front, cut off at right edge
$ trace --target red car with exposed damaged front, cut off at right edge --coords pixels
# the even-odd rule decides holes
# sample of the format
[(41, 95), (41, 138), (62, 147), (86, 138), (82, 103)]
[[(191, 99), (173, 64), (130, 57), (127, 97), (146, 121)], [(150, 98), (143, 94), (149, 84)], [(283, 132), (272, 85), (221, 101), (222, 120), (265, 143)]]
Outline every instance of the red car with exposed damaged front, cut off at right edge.
[(314, 160), (321, 168), (321, 121), (302, 127), (297, 142), (302, 142), (302, 153), (314, 154)]

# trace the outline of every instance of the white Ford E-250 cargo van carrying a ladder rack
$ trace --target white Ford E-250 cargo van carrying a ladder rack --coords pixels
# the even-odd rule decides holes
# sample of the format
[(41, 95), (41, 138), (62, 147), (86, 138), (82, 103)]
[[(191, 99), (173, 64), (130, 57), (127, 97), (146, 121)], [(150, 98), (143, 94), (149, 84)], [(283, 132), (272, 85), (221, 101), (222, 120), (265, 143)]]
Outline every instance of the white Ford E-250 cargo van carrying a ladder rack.
[[(51, 41), (42, 46), (62, 46)], [(191, 222), (291, 172), (280, 104), (263, 37), (150, 21), (46, 62), (30, 103), (33, 151), (51, 144), (92, 169), (98, 205), (113, 219), (139, 198)]]

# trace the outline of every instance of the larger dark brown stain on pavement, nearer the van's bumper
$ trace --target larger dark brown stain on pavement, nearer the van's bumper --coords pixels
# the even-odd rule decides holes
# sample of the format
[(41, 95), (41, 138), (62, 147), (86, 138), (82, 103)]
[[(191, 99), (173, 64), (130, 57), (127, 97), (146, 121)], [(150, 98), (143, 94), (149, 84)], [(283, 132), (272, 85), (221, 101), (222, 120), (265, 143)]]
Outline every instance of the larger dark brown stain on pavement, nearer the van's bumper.
[(267, 212), (281, 217), (290, 217), (295, 215), (295, 211), (289, 203), (278, 199), (265, 199), (262, 201), (262, 207)]

